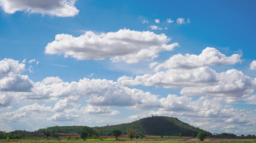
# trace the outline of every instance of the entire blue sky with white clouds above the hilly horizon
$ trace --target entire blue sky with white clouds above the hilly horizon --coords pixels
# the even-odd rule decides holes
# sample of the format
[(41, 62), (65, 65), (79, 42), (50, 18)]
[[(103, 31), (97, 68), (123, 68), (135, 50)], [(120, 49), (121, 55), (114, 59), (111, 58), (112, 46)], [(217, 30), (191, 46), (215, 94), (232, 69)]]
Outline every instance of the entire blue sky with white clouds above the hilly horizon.
[(254, 5), (0, 0), (2, 130), (157, 115), (255, 134)]

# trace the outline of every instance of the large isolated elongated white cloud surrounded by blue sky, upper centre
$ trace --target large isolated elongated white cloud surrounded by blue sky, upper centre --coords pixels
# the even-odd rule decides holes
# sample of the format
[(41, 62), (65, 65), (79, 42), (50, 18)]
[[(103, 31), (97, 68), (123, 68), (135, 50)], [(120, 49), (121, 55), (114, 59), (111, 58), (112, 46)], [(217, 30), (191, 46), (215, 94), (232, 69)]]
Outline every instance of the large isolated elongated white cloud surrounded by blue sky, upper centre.
[(153, 32), (138, 32), (121, 29), (118, 32), (97, 34), (86, 32), (79, 37), (61, 34), (55, 41), (48, 43), (46, 54), (64, 54), (78, 60), (101, 60), (112, 57), (112, 61), (124, 60), (126, 63), (138, 63), (158, 57), (161, 51), (171, 51), (177, 43), (170, 43), (166, 35)]

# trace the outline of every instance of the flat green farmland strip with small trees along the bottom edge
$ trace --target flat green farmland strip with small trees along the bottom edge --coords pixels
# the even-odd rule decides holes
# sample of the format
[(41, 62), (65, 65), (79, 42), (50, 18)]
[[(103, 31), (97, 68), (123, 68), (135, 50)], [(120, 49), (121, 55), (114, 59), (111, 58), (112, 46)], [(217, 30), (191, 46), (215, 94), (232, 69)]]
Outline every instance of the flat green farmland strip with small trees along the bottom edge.
[[(206, 138), (204, 141), (199, 141), (197, 138), (192, 138), (192, 137), (182, 137), (180, 138), (179, 136), (164, 136), (161, 138), (160, 136), (146, 136), (146, 138), (143, 139), (132, 139), (130, 140), (127, 138), (127, 136), (120, 136), (118, 138), (118, 141), (116, 141), (115, 136), (100, 136), (100, 139), (86, 139), (86, 141), (83, 141), (83, 139), (79, 138), (79, 135), (73, 134), (70, 135), (71, 139), (68, 140), (68, 135), (63, 135), (60, 136), (60, 140), (55, 139), (55, 138), (50, 138), (49, 140), (45, 140), (43, 137), (37, 137), (37, 138), (25, 138), (25, 139), (1, 139), (0, 142), (23, 142), (23, 143), (28, 143), (28, 142), (180, 142), (180, 143), (186, 143), (186, 142), (237, 142), (237, 143), (242, 143), (242, 142), (256, 142), (256, 139), (232, 139), (232, 138)], [(78, 139), (77, 139), (78, 138)]]

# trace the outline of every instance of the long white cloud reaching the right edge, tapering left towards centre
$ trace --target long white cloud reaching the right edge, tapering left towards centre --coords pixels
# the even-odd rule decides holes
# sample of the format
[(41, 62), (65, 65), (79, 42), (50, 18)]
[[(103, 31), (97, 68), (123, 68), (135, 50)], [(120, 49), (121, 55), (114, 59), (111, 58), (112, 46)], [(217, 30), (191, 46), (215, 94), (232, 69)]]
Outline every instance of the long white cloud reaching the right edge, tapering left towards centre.
[(168, 69), (143, 76), (119, 77), (122, 86), (164, 86), (164, 88), (182, 88), (183, 95), (207, 95), (224, 98), (226, 102), (236, 102), (255, 90), (256, 82), (242, 71), (228, 70), (216, 73), (209, 67), (197, 69)]

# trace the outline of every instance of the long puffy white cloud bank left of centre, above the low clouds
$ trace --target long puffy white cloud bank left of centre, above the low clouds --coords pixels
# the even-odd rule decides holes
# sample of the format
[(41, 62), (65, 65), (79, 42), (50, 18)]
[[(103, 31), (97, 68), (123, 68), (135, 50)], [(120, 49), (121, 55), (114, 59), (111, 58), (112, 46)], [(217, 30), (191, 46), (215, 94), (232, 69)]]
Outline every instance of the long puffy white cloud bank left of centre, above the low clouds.
[(89, 105), (94, 106), (126, 106), (131, 108), (159, 107), (156, 95), (138, 89), (120, 86), (117, 82), (106, 79), (81, 79), (79, 82), (59, 82), (44, 84), (34, 83), (31, 92), (23, 94), (30, 100), (58, 100), (54, 111), (64, 111), (76, 106), (77, 102), (88, 98)]

